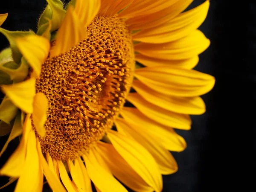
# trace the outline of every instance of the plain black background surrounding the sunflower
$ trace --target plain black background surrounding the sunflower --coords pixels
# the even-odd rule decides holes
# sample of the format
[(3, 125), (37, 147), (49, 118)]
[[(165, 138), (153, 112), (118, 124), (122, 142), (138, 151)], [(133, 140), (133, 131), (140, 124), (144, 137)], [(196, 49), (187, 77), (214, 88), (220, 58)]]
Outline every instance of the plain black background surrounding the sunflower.
[[(203, 2), (195, 0), (189, 9)], [(45, 0), (1, 0), (0, 13), (9, 13), (2, 27), (36, 31), (45, 6)], [(188, 147), (174, 153), (179, 170), (163, 176), (163, 191), (255, 191), (256, 3), (211, 0), (200, 29), (211, 45), (200, 55), (195, 69), (215, 76), (216, 84), (203, 96), (207, 112), (192, 116), (192, 130), (178, 131)], [(0, 34), (0, 49), (7, 46)], [(6, 140), (0, 137), (0, 147)], [(9, 144), (0, 166), (16, 145), (17, 140)], [(0, 186), (7, 181), (0, 177)], [(12, 192), (14, 187), (2, 191)]]

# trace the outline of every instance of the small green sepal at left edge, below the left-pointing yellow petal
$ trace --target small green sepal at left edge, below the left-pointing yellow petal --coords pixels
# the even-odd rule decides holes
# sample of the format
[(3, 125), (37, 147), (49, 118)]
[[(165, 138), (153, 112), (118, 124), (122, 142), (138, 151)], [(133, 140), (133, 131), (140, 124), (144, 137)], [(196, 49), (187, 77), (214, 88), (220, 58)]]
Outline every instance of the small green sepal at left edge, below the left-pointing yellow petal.
[(12, 119), (16, 116), (18, 108), (11, 102), (11, 100), (5, 96), (0, 105), (0, 119), (10, 124)]

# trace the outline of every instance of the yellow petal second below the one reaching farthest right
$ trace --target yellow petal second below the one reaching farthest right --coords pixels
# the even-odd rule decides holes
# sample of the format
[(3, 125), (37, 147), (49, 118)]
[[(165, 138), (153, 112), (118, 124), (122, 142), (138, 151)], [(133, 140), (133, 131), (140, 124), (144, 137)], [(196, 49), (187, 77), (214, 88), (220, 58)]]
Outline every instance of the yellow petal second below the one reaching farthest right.
[(148, 118), (168, 127), (178, 129), (190, 129), (191, 119), (189, 115), (174, 113), (143, 99), (138, 93), (129, 93), (128, 101), (136, 106)]

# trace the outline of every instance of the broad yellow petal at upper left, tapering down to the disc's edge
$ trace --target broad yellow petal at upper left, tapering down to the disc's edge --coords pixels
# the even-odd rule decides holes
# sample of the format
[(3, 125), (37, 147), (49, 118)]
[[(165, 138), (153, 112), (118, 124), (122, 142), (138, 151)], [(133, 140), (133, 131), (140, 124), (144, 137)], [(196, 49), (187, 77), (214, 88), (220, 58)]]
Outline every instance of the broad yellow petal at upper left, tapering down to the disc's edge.
[(49, 40), (38, 35), (28, 35), (17, 38), (16, 44), (22, 55), (29, 62), (29, 65), (35, 70), (37, 76), (39, 76), (41, 73), (41, 65), (44, 63), (49, 53)]

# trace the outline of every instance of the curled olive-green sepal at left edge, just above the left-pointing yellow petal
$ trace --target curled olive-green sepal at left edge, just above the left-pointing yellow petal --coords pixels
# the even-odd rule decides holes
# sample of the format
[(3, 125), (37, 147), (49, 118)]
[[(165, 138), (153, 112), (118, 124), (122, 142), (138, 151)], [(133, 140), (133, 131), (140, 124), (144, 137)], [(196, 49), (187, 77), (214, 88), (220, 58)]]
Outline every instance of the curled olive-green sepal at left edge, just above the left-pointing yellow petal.
[(0, 70), (7, 73), (10, 76), (10, 79), (17, 83), (23, 81), (28, 76), (29, 65), (25, 59), (22, 58), (19, 65), (14, 61), (0, 64)]

